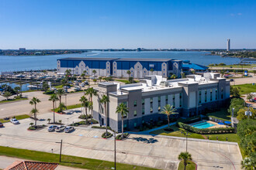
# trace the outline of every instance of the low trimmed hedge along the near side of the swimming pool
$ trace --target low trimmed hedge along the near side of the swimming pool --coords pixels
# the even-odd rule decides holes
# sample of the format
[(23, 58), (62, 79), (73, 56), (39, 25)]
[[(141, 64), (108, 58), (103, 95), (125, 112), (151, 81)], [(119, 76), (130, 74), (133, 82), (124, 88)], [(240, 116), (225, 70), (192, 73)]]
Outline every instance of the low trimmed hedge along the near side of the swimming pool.
[(190, 126), (189, 124), (184, 124), (182, 122), (178, 122), (178, 127), (183, 128), (187, 131), (190, 131), (195, 134), (227, 134), (234, 133), (234, 128), (205, 128), (199, 129)]

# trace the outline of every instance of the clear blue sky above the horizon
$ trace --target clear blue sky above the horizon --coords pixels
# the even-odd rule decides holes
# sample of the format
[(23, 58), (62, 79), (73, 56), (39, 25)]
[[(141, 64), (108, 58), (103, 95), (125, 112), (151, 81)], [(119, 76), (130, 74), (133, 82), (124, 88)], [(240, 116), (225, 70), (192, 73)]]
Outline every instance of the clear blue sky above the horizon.
[(256, 49), (255, 0), (0, 0), (0, 49)]

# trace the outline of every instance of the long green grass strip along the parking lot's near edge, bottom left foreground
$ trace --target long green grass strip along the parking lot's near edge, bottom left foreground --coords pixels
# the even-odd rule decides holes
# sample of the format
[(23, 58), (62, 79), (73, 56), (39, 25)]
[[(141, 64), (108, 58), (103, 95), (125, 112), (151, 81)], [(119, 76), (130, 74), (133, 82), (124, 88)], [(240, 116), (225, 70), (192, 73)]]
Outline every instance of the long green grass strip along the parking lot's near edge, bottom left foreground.
[[(59, 155), (51, 154), (42, 151), (30, 151), (19, 148), (9, 148), (0, 146), (0, 155), (5, 155), (15, 158), (24, 158), (39, 162), (59, 162)], [(114, 162), (106, 162), (98, 159), (81, 158), (69, 155), (62, 155), (60, 165), (71, 166), (74, 168), (86, 168), (86, 169), (111, 169), (114, 167)], [(141, 167), (136, 165), (127, 165), (116, 163), (117, 169), (154, 169)]]

